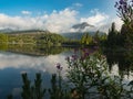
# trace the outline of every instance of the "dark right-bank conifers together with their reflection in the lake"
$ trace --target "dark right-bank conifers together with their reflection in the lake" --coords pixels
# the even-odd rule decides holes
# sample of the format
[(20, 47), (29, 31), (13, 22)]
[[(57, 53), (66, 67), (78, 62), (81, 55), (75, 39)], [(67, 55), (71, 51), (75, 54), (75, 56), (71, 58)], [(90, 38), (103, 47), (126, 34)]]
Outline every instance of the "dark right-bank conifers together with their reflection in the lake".
[(103, 43), (103, 54), (106, 56), (110, 69), (117, 64), (120, 75), (133, 70), (133, 26), (123, 24), (116, 31), (115, 23), (109, 29), (108, 37)]

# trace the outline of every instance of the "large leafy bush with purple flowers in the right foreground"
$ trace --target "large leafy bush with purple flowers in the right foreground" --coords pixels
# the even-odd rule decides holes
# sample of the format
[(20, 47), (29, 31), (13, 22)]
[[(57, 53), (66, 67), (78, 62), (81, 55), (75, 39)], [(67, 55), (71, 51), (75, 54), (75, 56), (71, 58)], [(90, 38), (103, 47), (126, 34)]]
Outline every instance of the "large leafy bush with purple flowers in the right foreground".
[(119, 76), (110, 75), (106, 59), (99, 53), (89, 55), (85, 50), (80, 57), (68, 58), (68, 78), (80, 99), (131, 99), (133, 90), (126, 90)]

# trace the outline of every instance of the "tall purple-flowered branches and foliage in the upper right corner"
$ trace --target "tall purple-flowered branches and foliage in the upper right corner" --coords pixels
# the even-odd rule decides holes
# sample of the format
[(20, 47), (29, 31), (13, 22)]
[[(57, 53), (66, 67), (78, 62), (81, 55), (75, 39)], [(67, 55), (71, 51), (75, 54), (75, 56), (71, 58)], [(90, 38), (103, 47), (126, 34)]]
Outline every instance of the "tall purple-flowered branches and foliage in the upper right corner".
[[(133, 1), (120, 0), (116, 1), (115, 8), (117, 9), (117, 15), (123, 21), (123, 25), (120, 34), (121, 46), (131, 50), (133, 46)], [(113, 40), (113, 38), (112, 38)]]

